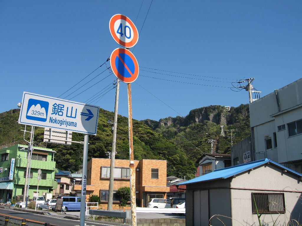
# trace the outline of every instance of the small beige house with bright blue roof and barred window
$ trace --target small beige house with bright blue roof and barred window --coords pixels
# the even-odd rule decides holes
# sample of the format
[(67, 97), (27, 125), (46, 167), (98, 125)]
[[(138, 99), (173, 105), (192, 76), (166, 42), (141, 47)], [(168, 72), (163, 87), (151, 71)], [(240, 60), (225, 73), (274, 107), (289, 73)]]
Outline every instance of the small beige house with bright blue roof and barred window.
[(302, 174), (269, 159), (188, 180), (179, 184), (187, 189), (186, 226), (252, 225), (258, 215), (263, 225), (300, 225), (301, 181)]

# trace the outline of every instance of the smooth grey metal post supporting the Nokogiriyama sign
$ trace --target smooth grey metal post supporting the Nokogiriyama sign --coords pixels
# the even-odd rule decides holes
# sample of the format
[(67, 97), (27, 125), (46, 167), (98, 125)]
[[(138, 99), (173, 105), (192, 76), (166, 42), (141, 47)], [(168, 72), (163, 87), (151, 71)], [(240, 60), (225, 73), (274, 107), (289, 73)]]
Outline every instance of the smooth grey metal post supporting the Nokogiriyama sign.
[(85, 226), (88, 134), (84, 136), (80, 226)]

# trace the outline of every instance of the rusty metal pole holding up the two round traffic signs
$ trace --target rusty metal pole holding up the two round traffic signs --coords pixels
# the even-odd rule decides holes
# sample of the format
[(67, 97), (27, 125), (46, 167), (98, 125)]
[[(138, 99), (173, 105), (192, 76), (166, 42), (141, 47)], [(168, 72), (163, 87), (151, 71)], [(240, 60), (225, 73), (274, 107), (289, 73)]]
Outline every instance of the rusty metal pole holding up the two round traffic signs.
[(136, 221), (136, 198), (135, 198), (135, 168), (134, 168), (134, 156), (133, 156), (131, 83), (127, 84), (127, 91), (128, 91), (129, 157), (130, 157), (131, 226), (136, 226), (137, 221)]

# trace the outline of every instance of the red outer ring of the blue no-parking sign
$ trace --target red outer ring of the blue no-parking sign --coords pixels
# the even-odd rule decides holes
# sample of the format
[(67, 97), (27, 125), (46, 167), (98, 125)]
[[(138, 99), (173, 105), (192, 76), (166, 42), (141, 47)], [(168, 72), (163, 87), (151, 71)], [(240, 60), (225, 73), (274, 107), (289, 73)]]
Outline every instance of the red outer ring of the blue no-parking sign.
[[(126, 77), (122, 76), (122, 75), (117, 71), (117, 68), (116, 68), (116, 65), (115, 65), (115, 58), (116, 58), (117, 55), (120, 54), (120, 53), (125, 53), (125, 54), (129, 55), (130, 58), (133, 60), (135, 71), (134, 71), (133, 76), (131, 76), (130, 78), (126, 78)], [(113, 52), (112, 52), (111, 55), (110, 55), (110, 66), (111, 66), (111, 69), (112, 69), (113, 74), (114, 74), (119, 80), (121, 80), (121, 81), (124, 82), (124, 83), (132, 83), (132, 82), (134, 82), (134, 81), (137, 79), (137, 77), (138, 77), (139, 67), (138, 67), (137, 59), (135, 58), (135, 56), (133, 55), (133, 53), (130, 52), (128, 49), (124, 49), (124, 48), (117, 48), (117, 49), (114, 49)]]

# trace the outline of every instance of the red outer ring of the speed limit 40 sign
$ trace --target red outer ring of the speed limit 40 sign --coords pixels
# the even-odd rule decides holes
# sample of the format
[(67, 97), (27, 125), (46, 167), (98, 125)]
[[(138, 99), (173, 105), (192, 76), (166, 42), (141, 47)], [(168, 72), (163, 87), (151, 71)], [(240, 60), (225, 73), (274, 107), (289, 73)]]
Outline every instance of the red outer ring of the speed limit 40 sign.
[[(115, 21), (117, 21), (119, 19), (126, 20), (130, 24), (131, 28), (133, 29), (134, 37), (131, 42), (123, 42), (115, 34), (114, 23), (115, 23)], [(111, 19), (109, 21), (109, 30), (110, 30), (111, 36), (114, 39), (114, 41), (116, 41), (117, 44), (119, 44), (125, 48), (131, 48), (131, 47), (135, 46), (138, 41), (138, 31), (137, 31), (136, 26), (133, 24), (133, 22), (128, 17), (126, 17), (122, 14), (115, 14), (114, 16), (111, 17)]]

